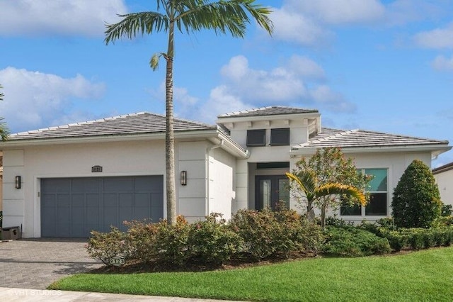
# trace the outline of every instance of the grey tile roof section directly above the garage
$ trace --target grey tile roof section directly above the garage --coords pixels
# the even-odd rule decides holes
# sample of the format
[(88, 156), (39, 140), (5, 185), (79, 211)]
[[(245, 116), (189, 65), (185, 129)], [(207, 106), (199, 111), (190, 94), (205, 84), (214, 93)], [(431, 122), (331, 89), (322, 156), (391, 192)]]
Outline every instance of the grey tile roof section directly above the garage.
[[(57, 127), (15, 133), (8, 140), (36, 140), (44, 138), (77, 138), (106, 135), (132, 135), (144, 133), (165, 133), (165, 116), (154, 113), (132, 113), (113, 116), (96, 121), (73, 123)], [(217, 125), (207, 125), (181, 118), (174, 119), (175, 132), (190, 130), (217, 130)]]

